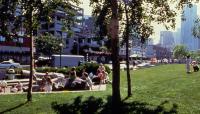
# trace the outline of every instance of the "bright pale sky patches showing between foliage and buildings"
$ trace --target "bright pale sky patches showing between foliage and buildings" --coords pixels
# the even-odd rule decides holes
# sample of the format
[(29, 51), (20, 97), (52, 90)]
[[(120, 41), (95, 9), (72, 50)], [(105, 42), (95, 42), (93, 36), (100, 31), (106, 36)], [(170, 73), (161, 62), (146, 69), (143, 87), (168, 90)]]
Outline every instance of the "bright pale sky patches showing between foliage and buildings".
[[(90, 4), (90, 0), (83, 0), (82, 1), (83, 4), (80, 5), (80, 7), (82, 7), (84, 9), (84, 15), (91, 15), (92, 14), (92, 8), (89, 6)], [(176, 31), (177, 28), (180, 28), (180, 15), (176, 17), (177, 21), (177, 25), (176, 28), (174, 30), (170, 30), (170, 31)], [(162, 25), (158, 25), (157, 23), (153, 24), (154, 26), (154, 34), (151, 36), (151, 38), (153, 38), (154, 44), (159, 43), (159, 39), (160, 39), (160, 31), (165, 31), (165, 27)]]

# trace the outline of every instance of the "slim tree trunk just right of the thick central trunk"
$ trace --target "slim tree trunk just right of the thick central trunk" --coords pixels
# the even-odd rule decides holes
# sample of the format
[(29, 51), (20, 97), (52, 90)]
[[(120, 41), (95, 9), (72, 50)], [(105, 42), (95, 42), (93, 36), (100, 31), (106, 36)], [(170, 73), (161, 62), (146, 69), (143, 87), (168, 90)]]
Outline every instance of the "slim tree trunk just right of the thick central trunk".
[(130, 76), (130, 67), (129, 67), (129, 17), (128, 17), (128, 9), (127, 9), (127, 4), (125, 3), (125, 11), (126, 11), (126, 33), (125, 33), (125, 42), (126, 42), (126, 75), (127, 75), (127, 86), (128, 86), (128, 97), (132, 95), (131, 93), (131, 76)]

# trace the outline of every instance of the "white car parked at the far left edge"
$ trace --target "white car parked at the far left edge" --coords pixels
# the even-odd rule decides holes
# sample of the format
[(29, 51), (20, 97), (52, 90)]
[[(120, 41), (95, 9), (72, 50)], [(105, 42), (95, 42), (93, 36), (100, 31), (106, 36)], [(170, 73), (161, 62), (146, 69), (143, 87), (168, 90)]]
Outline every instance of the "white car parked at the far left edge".
[(21, 68), (19, 63), (15, 63), (14, 61), (3, 61), (0, 63), (0, 68)]

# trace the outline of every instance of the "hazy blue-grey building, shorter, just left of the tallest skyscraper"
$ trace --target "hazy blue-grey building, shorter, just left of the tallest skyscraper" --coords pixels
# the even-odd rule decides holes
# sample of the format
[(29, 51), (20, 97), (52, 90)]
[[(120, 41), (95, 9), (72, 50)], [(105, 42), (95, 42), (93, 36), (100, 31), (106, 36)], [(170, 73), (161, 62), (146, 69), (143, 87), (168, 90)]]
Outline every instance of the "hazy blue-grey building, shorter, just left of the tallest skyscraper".
[(172, 50), (174, 46), (174, 36), (171, 31), (161, 31), (160, 32), (160, 45), (162, 47)]

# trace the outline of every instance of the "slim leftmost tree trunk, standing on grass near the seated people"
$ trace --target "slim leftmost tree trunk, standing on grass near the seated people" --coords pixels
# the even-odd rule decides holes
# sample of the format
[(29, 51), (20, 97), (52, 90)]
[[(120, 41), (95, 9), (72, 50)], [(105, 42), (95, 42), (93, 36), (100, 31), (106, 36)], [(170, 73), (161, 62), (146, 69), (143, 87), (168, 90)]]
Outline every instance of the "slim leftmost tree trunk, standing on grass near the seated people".
[(32, 11), (33, 11), (33, 7), (32, 7), (32, 3), (31, 1), (29, 2), (29, 35), (30, 35), (30, 76), (29, 76), (29, 85), (28, 85), (28, 93), (27, 93), (27, 101), (32, 101), (32, 82), (33, 82), (33, 69), (34, 69), (34, 54), (33, 54), (33, 35), (32, 35), (32, 31), (33, 31), (33, 20), (32, 20)]

